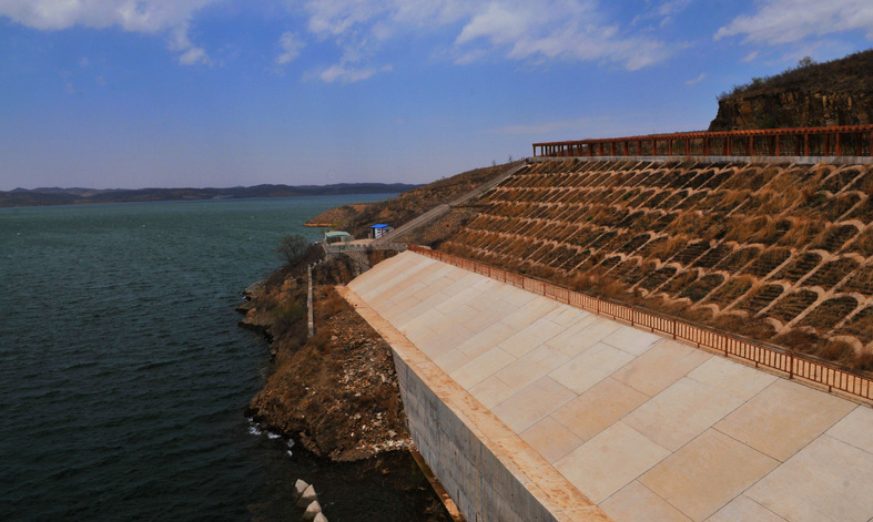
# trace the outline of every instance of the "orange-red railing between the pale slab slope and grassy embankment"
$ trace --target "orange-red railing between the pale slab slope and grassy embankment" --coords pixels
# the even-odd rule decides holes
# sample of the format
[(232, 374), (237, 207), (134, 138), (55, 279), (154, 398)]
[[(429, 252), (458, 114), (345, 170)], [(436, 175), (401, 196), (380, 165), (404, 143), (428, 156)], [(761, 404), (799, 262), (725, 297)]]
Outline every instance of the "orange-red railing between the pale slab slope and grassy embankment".
[(717, 350), (722, 352), (724, 357), (747, 360), (754, 364), (755, 368), (765, 367), (784, 372), (789, 379), (801, 378), (825, 386), (828, 391), (839, 390), (862, 399), (873, 400), (873, 379), (871, 377), (823, 359), (793, 352), (778, 346), (753, 341), (732, 334), (717, 331), (712, 328), (662, 316), (638, 307), (589, 296), (541, 279), (515, 274), (453, 254), (432, 250), (430, 248), (412, 244), (409, 245), (409, 250), (499, 282), (509, 283), (586, 311), (620, 320), (635, 327), (646, 328), (664, 337), (693, 344), (698, 348)]

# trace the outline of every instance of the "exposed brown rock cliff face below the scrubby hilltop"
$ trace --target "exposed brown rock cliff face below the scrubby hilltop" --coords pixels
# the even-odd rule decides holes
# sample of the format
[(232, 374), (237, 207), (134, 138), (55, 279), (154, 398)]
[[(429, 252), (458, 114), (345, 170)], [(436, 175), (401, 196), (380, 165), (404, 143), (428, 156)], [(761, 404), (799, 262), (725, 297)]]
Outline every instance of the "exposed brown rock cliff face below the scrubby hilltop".
[(871, 123), (873, 93), (788, 90), (730, 96), (719, 101), (719, 113), (709, 130), (745, 131)]

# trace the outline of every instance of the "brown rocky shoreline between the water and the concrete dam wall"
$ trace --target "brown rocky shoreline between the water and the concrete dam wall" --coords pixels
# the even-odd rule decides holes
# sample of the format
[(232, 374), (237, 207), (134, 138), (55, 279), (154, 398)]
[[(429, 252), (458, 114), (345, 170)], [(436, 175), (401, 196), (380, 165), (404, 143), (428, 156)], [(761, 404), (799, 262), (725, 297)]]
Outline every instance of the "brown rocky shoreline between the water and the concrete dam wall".
[[(448, 521), (407, 451), (412, 439), (390, 347), (334, 289), (353, 277), (347, 259), (313, 269), (315, 335), (307, 336), (306, 265), (319, 256), (311, 252), (244, 293), (240, 326), (263, 334), (272, 358), (272, 372), (245, 414), (261, 429), (295, 441), (295, 452), (303, 448), (337, 463), (332, 465), (354, 463), (389, 479), (392, 489), (408, 494), (419, 520)], [(368, 472), (362, 473), (367, 480)]]

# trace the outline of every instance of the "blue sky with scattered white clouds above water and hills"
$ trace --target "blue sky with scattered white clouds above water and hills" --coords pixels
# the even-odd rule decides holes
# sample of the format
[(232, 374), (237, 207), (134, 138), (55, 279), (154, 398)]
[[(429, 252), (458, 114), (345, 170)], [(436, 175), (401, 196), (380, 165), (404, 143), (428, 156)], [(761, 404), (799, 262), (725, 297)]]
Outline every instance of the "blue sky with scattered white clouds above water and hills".
[(0, 0), (0, 190), (429, 182), (870, 47), (870, 0)]

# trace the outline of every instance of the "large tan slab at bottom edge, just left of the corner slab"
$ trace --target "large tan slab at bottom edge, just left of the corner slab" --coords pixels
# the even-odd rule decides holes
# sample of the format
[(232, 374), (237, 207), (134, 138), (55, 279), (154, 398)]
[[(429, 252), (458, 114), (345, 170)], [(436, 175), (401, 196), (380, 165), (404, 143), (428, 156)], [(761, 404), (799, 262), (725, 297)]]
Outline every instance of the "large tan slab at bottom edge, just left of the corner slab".
[(700, 522), (776, 465), (779, 461), (710, 429), (642, 475), (640, 482)]

